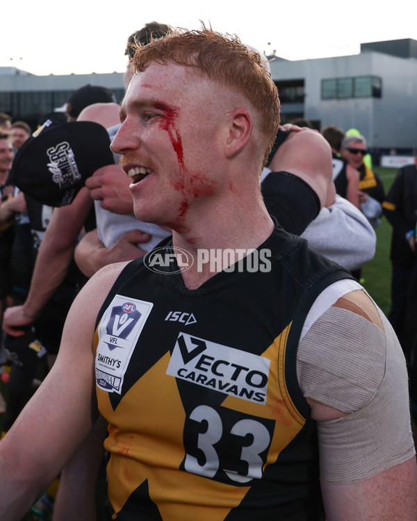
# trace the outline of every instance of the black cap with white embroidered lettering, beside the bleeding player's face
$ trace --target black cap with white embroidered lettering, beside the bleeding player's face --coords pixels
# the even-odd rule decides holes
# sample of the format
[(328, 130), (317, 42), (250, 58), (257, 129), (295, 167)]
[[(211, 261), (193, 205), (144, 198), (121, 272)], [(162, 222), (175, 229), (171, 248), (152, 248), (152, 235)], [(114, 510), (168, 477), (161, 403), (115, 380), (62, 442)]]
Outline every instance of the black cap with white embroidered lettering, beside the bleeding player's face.
[(85, 179), (113, 164), (104, 126), (48, 119), (17, 151), (11, 175), (24, 194), (42, 204), (65, 206), (72, 203)]

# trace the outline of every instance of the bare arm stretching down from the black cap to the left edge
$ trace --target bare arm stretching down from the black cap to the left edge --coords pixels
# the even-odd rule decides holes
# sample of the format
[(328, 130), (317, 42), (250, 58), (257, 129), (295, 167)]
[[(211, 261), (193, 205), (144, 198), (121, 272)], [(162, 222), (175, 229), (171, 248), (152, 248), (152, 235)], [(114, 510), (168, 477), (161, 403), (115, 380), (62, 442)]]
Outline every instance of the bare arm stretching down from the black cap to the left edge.
[(6, 333), (13, 336), (22, 334), (19, 327), (33, 323), (65, 279), (91, 205), (90, 192), (82, 188), (72, 204), (54, 210), (36, 258), (28, 297), (22, 306), (8, 308), (4, 314), (3, 329)]

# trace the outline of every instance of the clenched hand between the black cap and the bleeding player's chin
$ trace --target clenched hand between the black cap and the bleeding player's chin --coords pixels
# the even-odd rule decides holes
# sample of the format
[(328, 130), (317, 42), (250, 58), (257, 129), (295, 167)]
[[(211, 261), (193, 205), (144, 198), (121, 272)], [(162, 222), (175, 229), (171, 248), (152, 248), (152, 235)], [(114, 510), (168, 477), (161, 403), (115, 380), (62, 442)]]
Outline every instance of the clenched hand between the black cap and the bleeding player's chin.
[(92, 199), (101, 201), (100, 206), (113, 213), (133, 213), (133, 199), (129, 192), (131, 180), (119, 165), (106, 165), (95, 171), (85, 181)]

